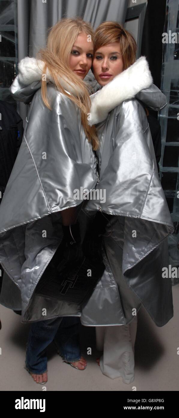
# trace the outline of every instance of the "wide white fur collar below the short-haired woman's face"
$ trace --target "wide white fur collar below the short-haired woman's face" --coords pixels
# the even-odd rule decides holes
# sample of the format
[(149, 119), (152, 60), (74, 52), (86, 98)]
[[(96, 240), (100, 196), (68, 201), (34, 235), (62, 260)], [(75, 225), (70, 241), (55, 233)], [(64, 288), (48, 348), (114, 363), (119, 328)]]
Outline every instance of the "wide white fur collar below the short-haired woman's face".
[(152, 82), (149, 64), (145, 56), (141, 56), (128, 69), (91, 95), (91, 115), (88, 124), (91, 126), (102, 122), (112, 109), (124, 100), (132, 99), (142, 89), (149, 87)]

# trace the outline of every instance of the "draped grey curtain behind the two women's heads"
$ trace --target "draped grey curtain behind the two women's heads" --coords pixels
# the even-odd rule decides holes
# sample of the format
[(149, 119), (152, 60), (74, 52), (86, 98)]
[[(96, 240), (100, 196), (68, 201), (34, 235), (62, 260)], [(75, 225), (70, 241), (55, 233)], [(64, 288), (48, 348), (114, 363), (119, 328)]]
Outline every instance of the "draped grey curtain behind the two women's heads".
[[(63, 17), (81, 17), (96, 29), (105, 20), (124, 24), (127, 0), (18, 0), (18, 61), (36, 56), (45, 46), (48, 29)], [(27, 106), (20, 103), (25, 120)]]

